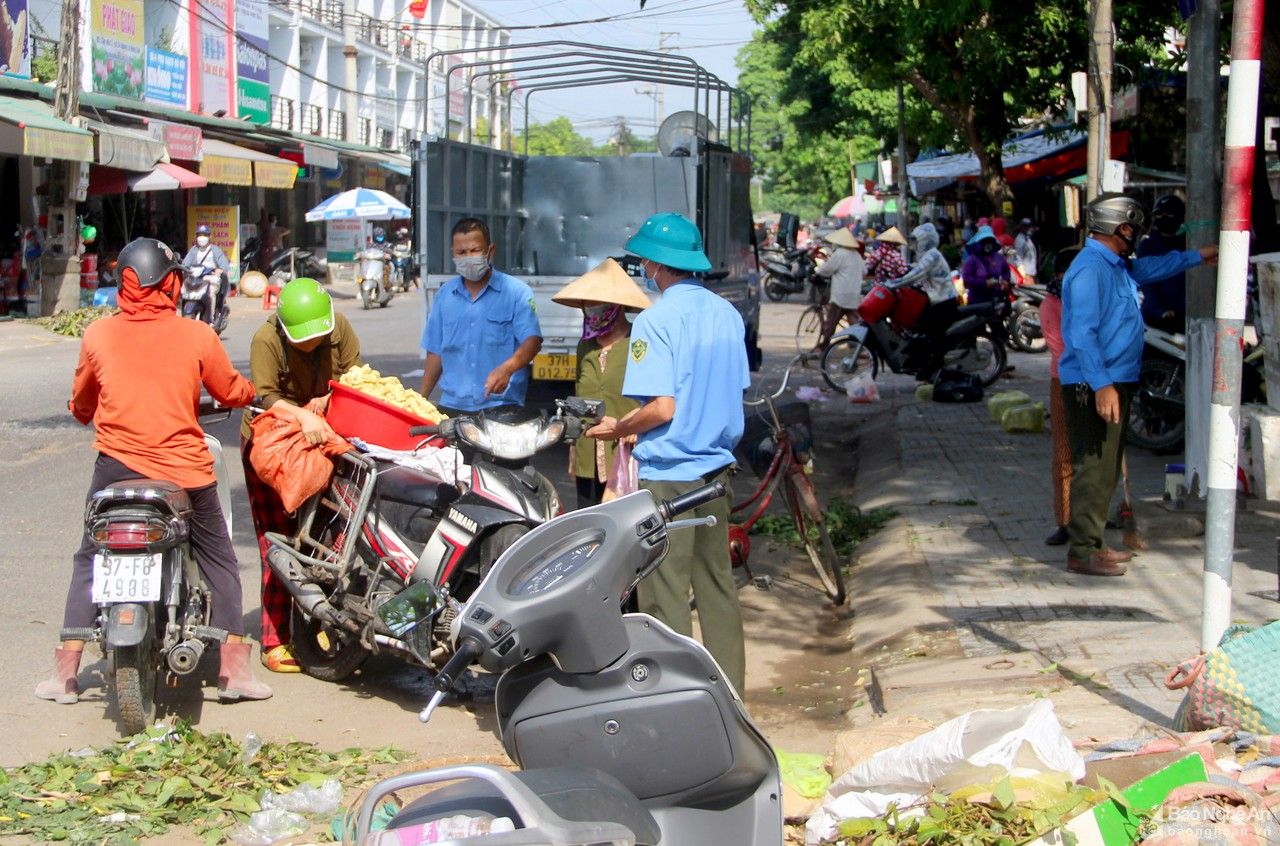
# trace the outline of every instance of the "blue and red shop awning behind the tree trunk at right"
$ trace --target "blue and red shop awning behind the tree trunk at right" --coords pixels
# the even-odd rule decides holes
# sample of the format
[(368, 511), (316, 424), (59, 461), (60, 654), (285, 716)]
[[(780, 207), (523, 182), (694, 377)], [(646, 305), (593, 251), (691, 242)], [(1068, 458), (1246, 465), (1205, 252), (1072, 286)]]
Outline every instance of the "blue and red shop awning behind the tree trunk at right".
[[(1084, 169), (1088, 136), (1080, 129), (1066, 128), (1030, 132), (1007, 142), (1001, 150), (1005, 179), (1010, 184), (1065, 177)], [(1123, 159), (1129, 154), (1129, 132), (1111, 133), (1111, 157)], [(978, 156), (972, 152), (937, 156), (906, 165), (911, 180), (911, 193), (923, 196), (941, 191), (961, 179), (977, 179), (982, 173)]]

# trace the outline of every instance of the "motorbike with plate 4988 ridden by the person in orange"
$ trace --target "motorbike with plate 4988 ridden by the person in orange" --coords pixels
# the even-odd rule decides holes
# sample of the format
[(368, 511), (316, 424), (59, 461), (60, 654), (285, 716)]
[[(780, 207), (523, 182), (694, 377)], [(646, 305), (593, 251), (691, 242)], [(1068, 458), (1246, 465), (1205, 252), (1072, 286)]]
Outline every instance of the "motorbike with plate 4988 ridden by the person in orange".
[[(224, 420), (229, 410), (212, 399), (200, 404), (202, 422)], [(230, 476), (221, 443), (205, 435), (214, 456), (218, 498), (232, 530)], [(106, 654), (110, 687), (125, 735), (155, 721), (157, 677), (170, 682), (189, 676), (205, 649), (227, 632), (212, 628), (209, 586), (191, 550), (187, 521), (191, 499), (170, 481), (131, 479), (96, 491), (84, 511), (84, 531), (99, 552), (93, 557), (93, 603), (97, 621), (63, 637), (93, 640)]]

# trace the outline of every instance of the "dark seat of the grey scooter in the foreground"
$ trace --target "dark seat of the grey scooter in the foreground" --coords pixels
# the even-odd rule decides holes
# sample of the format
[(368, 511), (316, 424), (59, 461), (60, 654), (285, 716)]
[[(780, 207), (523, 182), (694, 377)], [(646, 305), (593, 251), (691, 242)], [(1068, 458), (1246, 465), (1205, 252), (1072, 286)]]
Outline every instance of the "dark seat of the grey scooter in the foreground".
[[(568, 822), (626, 826), (635, 834), (636, 846), (654, 846), (662, 838), (653, 814), (618, 779), (599, 769), (548, 767), (512, 774)], [(521, 827), (538, 824), (538, 820), (521, 819), (489, 782), (467, 779), (445, 785), (410, 802), (388, 828), (407, 828), (454, 814), (507, 817)]]

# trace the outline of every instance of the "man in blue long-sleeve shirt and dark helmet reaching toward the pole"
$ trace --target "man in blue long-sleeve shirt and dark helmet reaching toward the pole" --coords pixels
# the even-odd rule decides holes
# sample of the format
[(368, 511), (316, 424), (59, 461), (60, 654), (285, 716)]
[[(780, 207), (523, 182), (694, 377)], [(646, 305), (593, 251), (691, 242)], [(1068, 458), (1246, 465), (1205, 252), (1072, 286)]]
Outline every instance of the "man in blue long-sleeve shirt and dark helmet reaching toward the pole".
[(1062, 279), (1062, 358), (1059, 379), (1071, 444), (1071, 507), (1066, 567), (1089, 576), (1123, 576), (1132, 553), (1108, 549), (1102, 530), (1120, 475), (1129, 401), (1142, 365), (1138, 285), (1202, 261), (1216, 247), (1128, 261), (1147, 211), (1125, 195), (1102, 195), (1085, 207), (1089, 239)]

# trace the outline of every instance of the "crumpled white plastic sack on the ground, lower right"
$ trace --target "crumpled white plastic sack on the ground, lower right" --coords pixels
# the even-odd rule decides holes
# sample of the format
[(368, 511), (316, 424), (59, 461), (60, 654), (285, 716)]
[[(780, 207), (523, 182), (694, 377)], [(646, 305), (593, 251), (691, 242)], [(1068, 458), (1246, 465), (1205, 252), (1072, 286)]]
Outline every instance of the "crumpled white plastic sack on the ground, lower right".
[(1084, 777), (1084, 759), (1047, 699), (1009, 710), (974, 710), (901, 746), (876, 753), (837, 778), (809, 818), (805, 843), (815, 846), (845, 819), (879, 817), (932, 790), (943, 794), (1005, 774), (1069, 773)]

